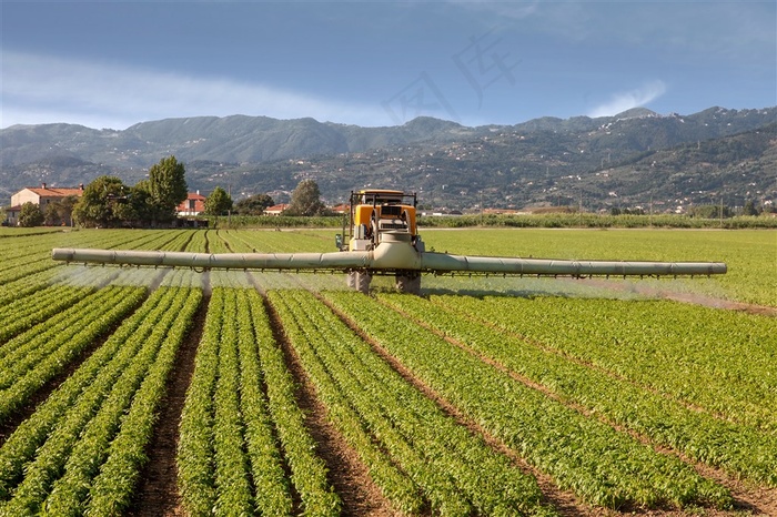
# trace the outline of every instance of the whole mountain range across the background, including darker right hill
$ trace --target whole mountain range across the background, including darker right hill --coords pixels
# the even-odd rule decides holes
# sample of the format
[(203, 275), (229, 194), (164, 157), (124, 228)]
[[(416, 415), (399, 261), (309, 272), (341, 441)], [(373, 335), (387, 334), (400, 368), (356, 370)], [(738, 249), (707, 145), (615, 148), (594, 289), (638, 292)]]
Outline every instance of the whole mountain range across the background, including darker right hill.
[(428, 207), (585, 209), (650, 203), (777, 202), (777, 108), (659, 115), (542, 118), (463, 126), (418, 118), (362, 128), (313, 119), (196, 116), (125, 130), (74, 124), (0, 130), (0, 204), (39, 185), (75, 186), (110, 174), (127, 184), (162, 158), (186, 166), (190, 190), (285, 201), (314, 179), (330, 203), (364, 186), (417, 191)]

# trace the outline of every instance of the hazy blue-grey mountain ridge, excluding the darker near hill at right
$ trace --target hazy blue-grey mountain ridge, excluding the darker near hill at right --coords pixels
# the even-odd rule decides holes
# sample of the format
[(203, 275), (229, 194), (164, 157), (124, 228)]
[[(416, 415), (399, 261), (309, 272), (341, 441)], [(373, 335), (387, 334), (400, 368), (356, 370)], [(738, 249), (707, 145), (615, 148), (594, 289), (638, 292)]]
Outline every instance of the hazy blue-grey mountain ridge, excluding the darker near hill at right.
[[(402, 125), (362, 128), (311, 118), (249, 115), (164, 119), (139, 122), (122, 131), (62, 123), (14, 125), (0, 130), (0, 196), (10, 197), (21, 187), (43, 181), (64, 186), (101, 174), (134, 184), (150, 165), (173, 154), (186, 164), (190, 189), (210, 191), (215, 185), (231, 185), (236, 197), (287, 192), (299, 179), (314, 178), (330, 199), (380, 182), (426, 189), (435, 204), (443, 205), (473, 204), (473, 190), (483, 196), (483, 192), (511, 189), (521, 191), (516, 194), (524, 200), (519, 204), (539, 203), (542, 196), (534, 192), (537, 183), (557, 182), (567, 173), (595, 174), (605, 164), (725, 139), (774, 121), (777, 108), (714, 107), (689, 115), (660, 115), (637, 108), (614, 116), (545, 116), (515, 125), (474, 128), (425, 116)], [(470, 154), (455, 155), (464, 149)], [(292, 166), (294, 162), (302, 165)], [(383, 178), (372, 173), (377, 170)], [(455, 195), (444, 192), (450, 186), (442, 186), (453, 183), (452, 178)], [(558, 189), (544, 186), (554, 187)], [(746, 190), (739, 190), (743, 192), (737, 195), (745, 195)], [(488, 195), (488, 201), (513, 205), (509, 195), (501, 200)]]

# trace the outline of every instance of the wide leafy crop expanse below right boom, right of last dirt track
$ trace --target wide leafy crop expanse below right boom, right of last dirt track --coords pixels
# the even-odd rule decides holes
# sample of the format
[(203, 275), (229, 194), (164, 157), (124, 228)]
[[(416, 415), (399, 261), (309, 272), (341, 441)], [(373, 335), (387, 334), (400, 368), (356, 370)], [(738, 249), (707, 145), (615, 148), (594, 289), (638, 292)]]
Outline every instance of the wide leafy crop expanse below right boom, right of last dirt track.
[[(759, 352), (770, 333), (765, 318), (658, 301), (381, 298), (614, 425), (737, 476), (777, 484), (777, 457), (768, 453), (777, 442), (767, 436), (773, 412), (765, 410), (775, 396), (757, 366), (766, 363)], [(556, 332), (561, 321), (564, 333)], [(739, 337), (722, 342), (722, 334)], [(652, 367), (656, 355), (665, 357), (662, 368)], [(710, 373), (720, 363), (728, 375)]]

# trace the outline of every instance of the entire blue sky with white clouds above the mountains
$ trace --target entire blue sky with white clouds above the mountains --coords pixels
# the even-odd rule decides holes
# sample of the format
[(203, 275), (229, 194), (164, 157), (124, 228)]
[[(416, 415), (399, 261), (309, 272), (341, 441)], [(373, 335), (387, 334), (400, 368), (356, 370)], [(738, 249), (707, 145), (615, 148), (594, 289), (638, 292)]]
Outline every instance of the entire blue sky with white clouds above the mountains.
[(777, 104), (777, 2), (6, 1), (0, 128)]

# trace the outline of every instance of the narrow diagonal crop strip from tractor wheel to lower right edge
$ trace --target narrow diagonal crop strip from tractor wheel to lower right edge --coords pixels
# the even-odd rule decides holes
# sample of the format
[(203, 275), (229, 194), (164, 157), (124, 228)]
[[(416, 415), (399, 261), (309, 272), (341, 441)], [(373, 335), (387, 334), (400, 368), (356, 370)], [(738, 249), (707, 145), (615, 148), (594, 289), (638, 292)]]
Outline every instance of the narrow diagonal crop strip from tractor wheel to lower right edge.
[[(545, 386), (564, 401), (604, 415), (616, 425), (649, 436), (657, 444), (692, 458), (724, 467), (737, 477), (777, 486), (775, 436), (692, 409), (633, 382), (569, 359), (545, 343), (496, 330), (492, 322), (507, 316), (503, 315), (504, 311), (491, 312), (486, 304), (472, 304), (461, 296), (433, 296), (436, 303), (393, 294), (381, 295), (381, 300), (511, 372)], [(475, 310), (474, 305), (480, 306)], [(532, 318), (526, 312), (514, 312)], [(541, 323), (535, 320), (534, 324)], [(561, 325), (562, 321), (555, 327)]]

